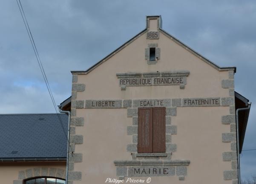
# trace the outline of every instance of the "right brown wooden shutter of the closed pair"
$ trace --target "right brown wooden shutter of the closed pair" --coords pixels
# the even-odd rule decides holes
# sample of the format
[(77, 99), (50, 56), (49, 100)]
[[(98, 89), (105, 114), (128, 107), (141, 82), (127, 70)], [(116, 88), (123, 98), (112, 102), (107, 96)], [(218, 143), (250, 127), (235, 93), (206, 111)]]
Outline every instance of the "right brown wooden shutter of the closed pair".
[(152, 153), (165, 153), (165, 108), (153, 108)]

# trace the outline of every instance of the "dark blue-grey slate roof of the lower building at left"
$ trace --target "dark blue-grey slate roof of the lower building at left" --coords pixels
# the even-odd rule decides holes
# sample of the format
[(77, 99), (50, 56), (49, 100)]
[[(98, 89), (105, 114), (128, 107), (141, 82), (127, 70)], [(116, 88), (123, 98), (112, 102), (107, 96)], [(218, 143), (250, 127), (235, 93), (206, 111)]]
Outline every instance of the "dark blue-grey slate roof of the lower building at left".
[[(68, 116), (58, 115), (67, 135)], [(58, 115), (0, 114), (0, 159), (66, 158), (67, 139)]]

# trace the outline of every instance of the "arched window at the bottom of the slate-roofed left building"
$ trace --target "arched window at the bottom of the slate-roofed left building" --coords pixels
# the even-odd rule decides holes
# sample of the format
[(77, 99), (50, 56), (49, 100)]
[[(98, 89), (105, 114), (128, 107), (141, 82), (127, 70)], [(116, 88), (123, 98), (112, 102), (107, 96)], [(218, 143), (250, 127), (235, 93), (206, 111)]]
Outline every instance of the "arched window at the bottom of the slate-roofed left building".
[(65, 180), (53, 177), (36, 177), (24, 180), (23, 184), (65, 184)]

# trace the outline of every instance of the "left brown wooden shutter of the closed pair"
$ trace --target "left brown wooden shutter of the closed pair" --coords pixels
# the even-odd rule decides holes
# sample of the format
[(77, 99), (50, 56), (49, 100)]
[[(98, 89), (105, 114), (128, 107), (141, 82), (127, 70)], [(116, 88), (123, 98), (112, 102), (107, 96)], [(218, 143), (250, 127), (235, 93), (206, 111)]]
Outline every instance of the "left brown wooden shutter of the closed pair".
[(138, 153), (152, 153), (152, 108), (138, 108)]

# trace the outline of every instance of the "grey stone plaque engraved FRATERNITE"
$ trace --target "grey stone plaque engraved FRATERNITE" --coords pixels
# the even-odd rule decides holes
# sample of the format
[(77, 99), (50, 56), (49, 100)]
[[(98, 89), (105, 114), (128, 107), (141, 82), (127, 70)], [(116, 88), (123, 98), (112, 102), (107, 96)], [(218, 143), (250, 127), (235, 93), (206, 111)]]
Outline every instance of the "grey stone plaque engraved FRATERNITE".
[(182, 99), (183, 107), (220, 106), (220, 98), (191, 98)]

